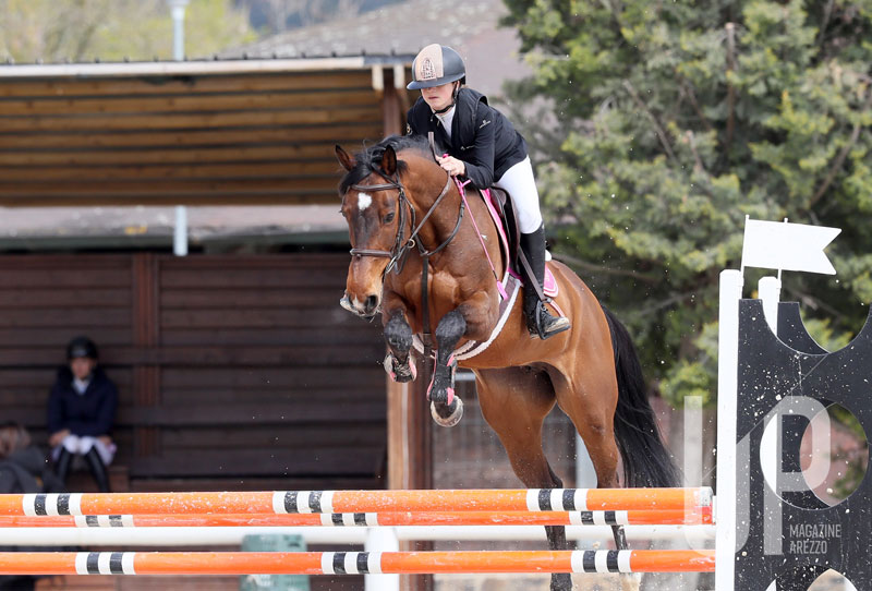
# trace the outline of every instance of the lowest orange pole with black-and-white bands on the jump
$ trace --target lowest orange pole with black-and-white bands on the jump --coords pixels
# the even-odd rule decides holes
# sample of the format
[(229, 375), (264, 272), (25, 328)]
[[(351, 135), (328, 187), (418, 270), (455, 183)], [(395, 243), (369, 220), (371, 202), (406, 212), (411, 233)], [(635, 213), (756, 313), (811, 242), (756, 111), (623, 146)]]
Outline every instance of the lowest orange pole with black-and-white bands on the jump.
[(483, 552), (4, 552), (0, 575), (713, 572), (711, 550)]

